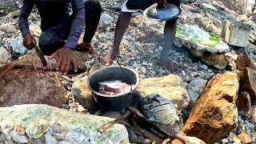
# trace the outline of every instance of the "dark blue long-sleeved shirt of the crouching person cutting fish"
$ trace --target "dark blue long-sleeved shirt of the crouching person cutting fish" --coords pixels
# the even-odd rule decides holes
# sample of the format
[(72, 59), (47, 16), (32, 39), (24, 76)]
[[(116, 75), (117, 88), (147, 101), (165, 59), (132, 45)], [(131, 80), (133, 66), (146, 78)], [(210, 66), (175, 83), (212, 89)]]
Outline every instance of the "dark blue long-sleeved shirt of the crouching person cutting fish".
[(27, 18), (30, 16), (30, 12), (34, 5), (37, 6), (42, 19), (41, 29), (42, 31), (45, 31), (52, 26), (61, 24), (70, 16), (70, 3), (75, 16), (65, 46), (75, 48), (85, 25), (83, 0), (24, 0), (21, 14), (18, 19), (18, 25), (19, 29), (22, 31), (22, 36), (24, 37), (26, 34), (30, 34)]

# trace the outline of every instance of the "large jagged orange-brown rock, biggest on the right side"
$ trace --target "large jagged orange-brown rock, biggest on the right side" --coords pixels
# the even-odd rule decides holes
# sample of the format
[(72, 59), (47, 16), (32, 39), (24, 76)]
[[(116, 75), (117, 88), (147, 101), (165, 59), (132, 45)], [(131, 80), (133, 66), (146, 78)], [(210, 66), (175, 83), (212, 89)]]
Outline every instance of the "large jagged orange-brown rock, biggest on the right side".
[(235, 101), (238, 97), (238, 76), (232, 72), (216, 74), (194, 103), (181, 134), (220, 142), (223, 134), (234, 131), (238, 123)]

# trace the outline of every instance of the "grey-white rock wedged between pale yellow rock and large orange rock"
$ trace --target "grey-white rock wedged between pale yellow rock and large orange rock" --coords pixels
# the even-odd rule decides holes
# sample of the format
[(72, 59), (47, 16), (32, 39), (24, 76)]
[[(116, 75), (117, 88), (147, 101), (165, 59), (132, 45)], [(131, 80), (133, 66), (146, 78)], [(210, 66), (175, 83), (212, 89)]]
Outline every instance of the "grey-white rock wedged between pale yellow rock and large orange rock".
[(194, 78), (189, 85), (187, 86), (187, 91), (189, 92), (192, 105), (198, 99), (199, 95), (202, 93), (202, 90), (206, 86), (206, 80), (201, 78)]

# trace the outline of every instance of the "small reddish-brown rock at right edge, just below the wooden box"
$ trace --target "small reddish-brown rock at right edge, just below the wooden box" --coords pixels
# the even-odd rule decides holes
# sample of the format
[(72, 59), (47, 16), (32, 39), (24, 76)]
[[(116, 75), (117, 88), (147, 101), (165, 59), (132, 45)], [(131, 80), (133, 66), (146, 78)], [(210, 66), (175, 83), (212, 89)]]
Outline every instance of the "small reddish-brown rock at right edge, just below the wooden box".
[(256, 70), (254, 62), (252, 62), (252, 60), (250, 59), (249, 55), (246, 52), (243, 52), (243, 54), (240, 54), (238, 56), (238, 59), (236, 60), (236, 67), (237, 70), (242, 70), (246, 67)]

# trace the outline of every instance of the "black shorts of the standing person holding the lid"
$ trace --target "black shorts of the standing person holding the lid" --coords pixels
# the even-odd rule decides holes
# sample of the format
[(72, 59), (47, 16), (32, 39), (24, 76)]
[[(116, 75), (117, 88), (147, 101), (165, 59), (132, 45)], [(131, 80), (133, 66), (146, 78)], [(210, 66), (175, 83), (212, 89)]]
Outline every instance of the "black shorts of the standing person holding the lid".
[[(180, 6), (181, 0), (166, 0), (166, 2)], [(153, 5), (154, 0), (128, 0), (125, 4), (128, 10), (146, 10), (146, 8)]]

